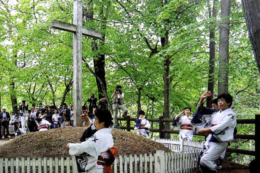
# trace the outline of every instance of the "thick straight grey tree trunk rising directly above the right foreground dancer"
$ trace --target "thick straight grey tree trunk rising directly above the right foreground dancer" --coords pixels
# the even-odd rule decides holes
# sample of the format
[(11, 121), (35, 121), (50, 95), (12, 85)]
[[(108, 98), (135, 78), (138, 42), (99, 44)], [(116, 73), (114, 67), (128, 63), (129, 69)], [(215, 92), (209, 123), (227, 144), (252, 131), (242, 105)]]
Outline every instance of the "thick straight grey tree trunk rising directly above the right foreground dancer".
[(219, 27), (219, 73), (218, 94), (228, 93), (229, 87), (229, 17), (231, 0), (221, 0)]

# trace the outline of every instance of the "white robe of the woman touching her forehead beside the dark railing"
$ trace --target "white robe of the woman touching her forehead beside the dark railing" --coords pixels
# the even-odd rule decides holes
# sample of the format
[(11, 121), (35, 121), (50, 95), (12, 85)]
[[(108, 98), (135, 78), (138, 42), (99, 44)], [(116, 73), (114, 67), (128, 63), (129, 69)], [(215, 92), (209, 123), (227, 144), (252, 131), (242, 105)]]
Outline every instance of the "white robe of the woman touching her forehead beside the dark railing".
[[(183, 125), (183, 124), (189, 124), (189, 125), (192, 125), (191, 124), (191, 120), (186, 116), (181, 116), (179, 121), (177, 122), (177, 126), (174, 126), (174, 128), (176, 130), (178, 130), (179, 128), (179, 125)], [(180, 134), (179, 134), (179, 139), (185, 139), (185, 140), (188, 140), (188, 141), (192, 141), (193, 140), (193, 131), (192, 130), (185, 130), (185, 129), (180, 129)]]

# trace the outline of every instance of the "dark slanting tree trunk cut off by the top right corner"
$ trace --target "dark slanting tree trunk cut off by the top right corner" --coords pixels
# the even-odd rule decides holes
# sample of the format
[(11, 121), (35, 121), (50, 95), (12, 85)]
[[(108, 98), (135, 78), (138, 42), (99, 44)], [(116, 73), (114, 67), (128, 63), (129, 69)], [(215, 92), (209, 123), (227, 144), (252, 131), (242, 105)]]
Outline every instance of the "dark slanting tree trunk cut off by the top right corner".
[(249, 34), (249, 39), (253, 48), (258, 71), (260, 72), (260, 1), (242, 0), (244, 15)]

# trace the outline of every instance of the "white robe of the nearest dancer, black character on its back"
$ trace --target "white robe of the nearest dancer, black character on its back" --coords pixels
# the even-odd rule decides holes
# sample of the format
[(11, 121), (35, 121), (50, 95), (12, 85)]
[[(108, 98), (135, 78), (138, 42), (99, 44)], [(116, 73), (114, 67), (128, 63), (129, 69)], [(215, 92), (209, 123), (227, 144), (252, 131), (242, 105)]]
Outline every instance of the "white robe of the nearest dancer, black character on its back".
[[(81, 154), (86, 155), (86, 165), (83, 165), (82, 168), (87, 172), (96, 172), (96, 164), (98, 156), (107, 151), (109, 148), (114, 146), (113, 137), (111, 134), (112, 129), (102, 128), (98, 130), (92, 137), (87, 141), (81, 143), (70, 143), (69, 145), (69, 154), (79, 156)], [(80, 162), (80, 161), (78, 161)], [(102, 168), (103, 166), (98, 165)]]

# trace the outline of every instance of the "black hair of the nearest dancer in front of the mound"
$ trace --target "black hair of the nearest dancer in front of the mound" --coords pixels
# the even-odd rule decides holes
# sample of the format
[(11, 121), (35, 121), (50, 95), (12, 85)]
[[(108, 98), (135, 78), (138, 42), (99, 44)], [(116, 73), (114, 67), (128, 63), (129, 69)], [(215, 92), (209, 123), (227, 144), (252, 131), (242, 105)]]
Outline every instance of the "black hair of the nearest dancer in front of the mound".
[(109, 128), (112, 122), (112, 115), (108, 109), (97, 108), (95, 111), (95, 117), (99, 119), (99, 123), (104, 122), (106, 128)]

